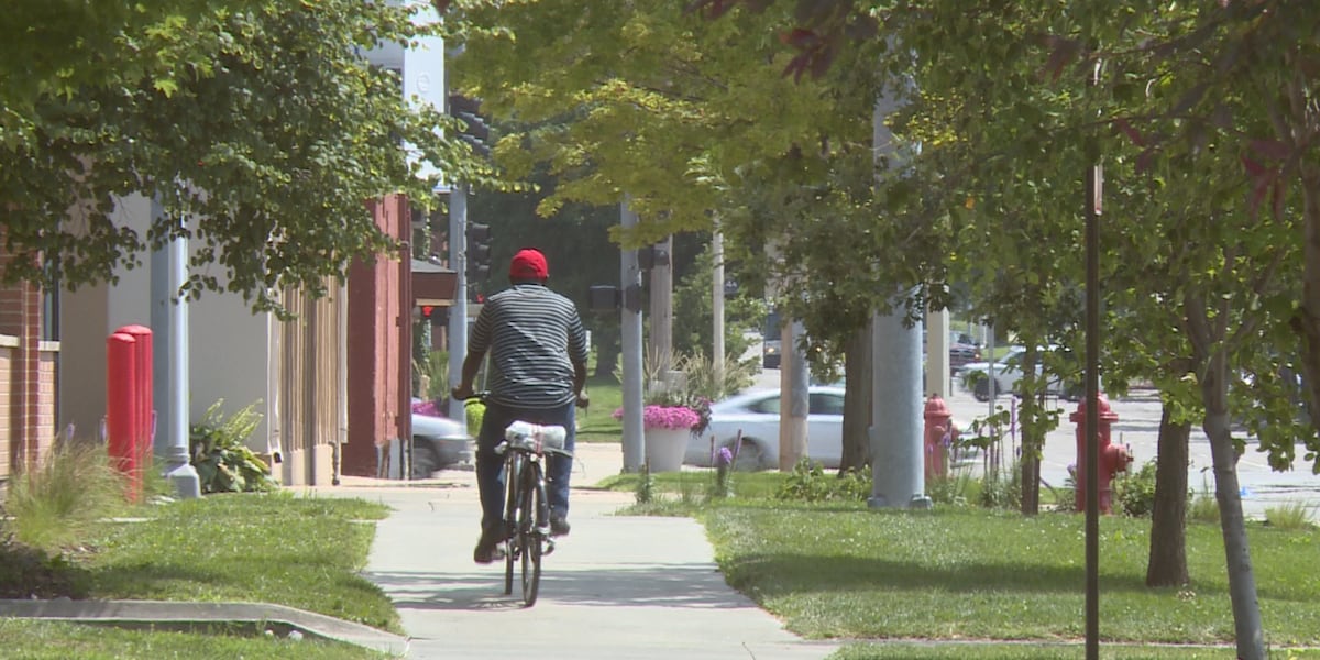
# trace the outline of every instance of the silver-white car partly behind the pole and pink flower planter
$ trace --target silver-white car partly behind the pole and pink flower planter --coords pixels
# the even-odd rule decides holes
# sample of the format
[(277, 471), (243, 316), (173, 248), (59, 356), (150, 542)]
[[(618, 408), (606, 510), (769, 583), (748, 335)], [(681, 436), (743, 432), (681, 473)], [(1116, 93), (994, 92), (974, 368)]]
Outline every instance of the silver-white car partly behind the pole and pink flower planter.
[[(825, 467), (838, 467), (843, 455), (843, 388), (812, 385), (807, 416), (807, 455)], [(684, 454), (685, 465), (710, 467), (719, 447), (738, 449), (739, 470), (779, 467), (779, 389), (756, 389), (710, 405), (710, 426), (693, 434)], [(711, 438), (714, 438), (711, 441)]]

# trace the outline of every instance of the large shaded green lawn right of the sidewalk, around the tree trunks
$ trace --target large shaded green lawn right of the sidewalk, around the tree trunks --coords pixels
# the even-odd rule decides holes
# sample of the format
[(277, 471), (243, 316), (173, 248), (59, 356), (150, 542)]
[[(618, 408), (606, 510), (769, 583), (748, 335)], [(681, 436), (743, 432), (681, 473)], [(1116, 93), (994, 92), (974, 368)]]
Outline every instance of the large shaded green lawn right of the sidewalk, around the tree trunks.
[[(701, 517), (729, 582), (807, 638), (1084, 636), (1082, 516), (734, 502)], [(1101, 636), (1230, 640), (1218, 528), (1188, 525), (1187, 589), (1144, 586), (1148, 529), (1148, 520), (1101, 521)], [(1313, 529), (1250, 528), (1266, 639), (1274, 645), (1320, 644), (1317, 543)]]

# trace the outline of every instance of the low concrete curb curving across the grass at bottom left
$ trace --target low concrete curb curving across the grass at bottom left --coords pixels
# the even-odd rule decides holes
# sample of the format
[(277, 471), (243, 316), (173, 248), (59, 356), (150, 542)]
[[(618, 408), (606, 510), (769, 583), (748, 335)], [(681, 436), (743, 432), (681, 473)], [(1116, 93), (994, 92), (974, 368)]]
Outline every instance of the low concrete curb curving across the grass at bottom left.
[(195, 603), (170, 601), (7, 601), (0, 616), (57, 620), (119, 627), (174, 627), (180, 630), (238, 624), (255, 634), (272, 630), (280, 635), (298, 631), (321, 639), (356, 644), (383, 653), (404, 656), (408, 638), (371, 626), (323, 614), (269, 603)]

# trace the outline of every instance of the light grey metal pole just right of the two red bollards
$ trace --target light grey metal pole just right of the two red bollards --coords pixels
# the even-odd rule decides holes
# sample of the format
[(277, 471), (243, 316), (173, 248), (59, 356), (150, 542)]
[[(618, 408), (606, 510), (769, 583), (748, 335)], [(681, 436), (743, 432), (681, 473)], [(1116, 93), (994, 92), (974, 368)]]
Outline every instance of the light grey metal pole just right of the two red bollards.
[[(174, 222), (165, 216), (160, 198), (152, 199), (152, 224)], [(180, 220), (182, 222), (182, 220)], [(187, 301), (174, 298), (187, 280), (187, 239), (176, 238), (152, 252), (152, 399), (157, 401), (156, 454), (162, 474), (180, 498), (202, 496), (201, 479), (189, 461), (187, 418)]]

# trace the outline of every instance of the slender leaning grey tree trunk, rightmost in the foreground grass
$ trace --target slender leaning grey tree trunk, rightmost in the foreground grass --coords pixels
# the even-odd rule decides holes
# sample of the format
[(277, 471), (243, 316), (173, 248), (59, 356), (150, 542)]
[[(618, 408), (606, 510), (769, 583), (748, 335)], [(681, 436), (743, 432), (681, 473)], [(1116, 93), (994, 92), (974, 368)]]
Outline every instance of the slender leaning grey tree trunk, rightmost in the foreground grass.
[(1224, 531), (1237, 655), (1241, 660), (1265, 660), (1265, 631), (1255, 573), (1251, 570), (1251, 549), (1246, 539), (1246, 519), (1242, 515), (1242, 494), (1237, 479), (1238, 454), (1229, 429), (1228, 366), (1222, 352), (1209, 359), (1209, 368), (1201, 381), (1201, 397), (1205, 400), (1204, 429), (1210, 438), (1210, 458), (1214, 465), (1214, 499), (1220, 504), (1220, 527)]

